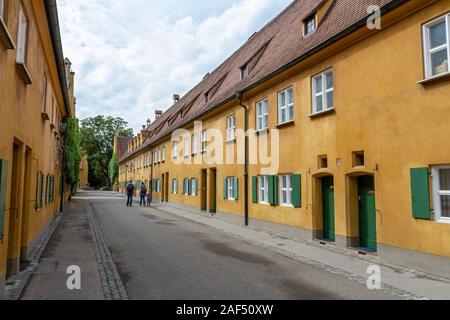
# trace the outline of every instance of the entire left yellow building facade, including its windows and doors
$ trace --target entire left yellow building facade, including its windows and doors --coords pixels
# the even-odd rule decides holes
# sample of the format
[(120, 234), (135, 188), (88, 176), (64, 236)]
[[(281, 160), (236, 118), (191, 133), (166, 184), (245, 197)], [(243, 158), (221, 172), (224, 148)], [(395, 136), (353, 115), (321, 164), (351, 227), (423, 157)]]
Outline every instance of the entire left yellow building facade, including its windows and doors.
[(1, 1), (0, 290), (63, 210), (70, 113), (55, 1)]

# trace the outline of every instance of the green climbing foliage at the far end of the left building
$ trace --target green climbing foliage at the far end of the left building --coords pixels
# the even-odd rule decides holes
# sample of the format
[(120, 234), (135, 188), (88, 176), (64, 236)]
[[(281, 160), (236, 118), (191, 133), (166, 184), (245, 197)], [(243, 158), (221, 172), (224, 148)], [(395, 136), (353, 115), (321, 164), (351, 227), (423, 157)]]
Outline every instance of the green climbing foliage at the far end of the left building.
[(67, 134), (65, 137), (64, 158), (66, 181), (75, 190), (80, 178), (80, 132), (78, 129), (78, 120), (75, 118), (67, 118)]

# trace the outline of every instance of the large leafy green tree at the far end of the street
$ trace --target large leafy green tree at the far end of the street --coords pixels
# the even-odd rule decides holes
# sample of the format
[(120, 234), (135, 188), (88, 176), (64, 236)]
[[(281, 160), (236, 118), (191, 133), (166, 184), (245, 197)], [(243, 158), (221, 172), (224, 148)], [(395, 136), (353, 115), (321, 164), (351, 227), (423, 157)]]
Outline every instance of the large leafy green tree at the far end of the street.
[(89, 161), (89, 182), (93, 186), (111, 186), (109, 163), (113, 156), (116, 132), (122, 137), (133, 137), (133, 130), (122, 118), (96, 116), (81, 121), (81, 147)]

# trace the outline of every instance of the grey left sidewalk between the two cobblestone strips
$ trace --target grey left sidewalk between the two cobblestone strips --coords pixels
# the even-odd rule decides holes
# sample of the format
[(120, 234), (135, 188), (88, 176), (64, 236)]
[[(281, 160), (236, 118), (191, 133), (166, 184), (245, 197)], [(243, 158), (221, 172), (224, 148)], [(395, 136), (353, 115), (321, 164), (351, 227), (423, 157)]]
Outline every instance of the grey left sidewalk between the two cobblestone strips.
[[(81, 290), (69, 290), (69, 266), (81, 269)], [(86, 205), (68, 203), (66, 212), (23, 292), (24, 300), (103, 300), (103, 289)]]

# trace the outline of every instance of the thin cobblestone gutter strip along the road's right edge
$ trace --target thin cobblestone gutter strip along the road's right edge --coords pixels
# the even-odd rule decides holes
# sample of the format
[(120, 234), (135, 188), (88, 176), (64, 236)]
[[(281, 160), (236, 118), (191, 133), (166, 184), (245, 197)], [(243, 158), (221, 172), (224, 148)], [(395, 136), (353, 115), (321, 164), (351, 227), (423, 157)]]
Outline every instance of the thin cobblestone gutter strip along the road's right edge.
[[(327, 265), (327, 264), (324, 264), (324, 263), (321, 263), (321, 262), (318, 262), (318, 261), (314, 261), (314, 260), (312, 260), (310, 258), (302, 256), (301, 254), (293, 253), (293, 252), (288, 251), (288, 250), (283, 250), (283, 249), (280, 249), (278, 247), (265, 244), (265, 243), (263, 243), (261, 241), (249, 239), (249, 238), (244, 237), (242, 235), (239, 235), (237, 233), (225, 230), (225, 229), (221, 228), (220, 226), (214, 225), (213, 223), (208, 223), (208, 222), (203, 221), (202, 219), (198, 219), (198, 215), (196, 216), (195, 213), (190, 213), (189, 215), (186, 215), (186, 214), (182, 214), (181, 212), (174, 212), (174, 211), (165, 210), (164, 208), (161, 208), (161, 207), (156, 208), (156, 210), (174, 214), (176, 216), (179, 216), (179, 217), (184, 218), (184, 219), (188, 219), (188, 220), (190, 220), (190, 221), (192, 221), (194, 223), (197, 223), (197, 224), (207, 225), (207, 226), (209, 226), (209, 227), (211, 227), (213, 229), (216, 229), (216, 230), (218, 230), (218, 231), (220, 231), (220, 232), (222, 232), (222, 233), (224, 233), (224, 234), (226, 234), (226, 235), (228, 235), (230, 237), (233, 237), (235, 239), (245, 241), (245, 242), (250, 243), (252, 245), (255, 245), (257, 247), (264, 248), (266, 250), (269, 250), (269, 251), (281, 254), (281, 255), (283, 255), (285, 257), (288, 257), (288, 258), (300, 261), (302, 263), (309, 264), (309, 265), (312, 265), (314, 267), (318, 267), (320, 269), (326, 270), (326, 271), (331, 272), (333, 274), (344, 276), (344, 277), (346, 277), (346, 278), (348, 278), (350, 280), (362, 283), (364, 285), (367, 283), (367, 278), (365, 278), (365, 277), (353, 274), (351, 272), (348, 272), (348, 271), (342, 270), (340, 268), (336, 268), (336, 267), (333, 267), (333, 266), (330, 266), (330, 265)], [(224, 222), (224, 223), (226, 223), (226, 222)], [(258, 230), (258, 231), (260, 231), (260, 230)], [(264, 231), (262, 231), (262, 232), (264, 232)], [(385, 292), (385, 293), (398, 296), (398, 297), (400, 297), (401, 299), (404, 299), (404, 300), (429, 300), (427, 297), (423, 297), (423, 296), (418, 295), (418, 294), (416, 294), (414, 292), (409, 292), (409, 291), (406, 291), (406, 290), (403, 290), (403, 289), (399, 289), (399, 288), (396, 288), (396, 287), (393, 287), (393, 286), (390, 286), (390, 285), (387, 285), (387, 284), (383, 284), (381, 290), (383, 292)]]

